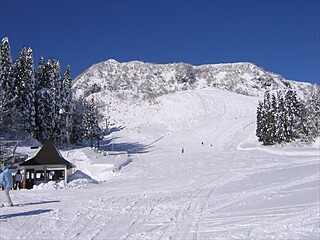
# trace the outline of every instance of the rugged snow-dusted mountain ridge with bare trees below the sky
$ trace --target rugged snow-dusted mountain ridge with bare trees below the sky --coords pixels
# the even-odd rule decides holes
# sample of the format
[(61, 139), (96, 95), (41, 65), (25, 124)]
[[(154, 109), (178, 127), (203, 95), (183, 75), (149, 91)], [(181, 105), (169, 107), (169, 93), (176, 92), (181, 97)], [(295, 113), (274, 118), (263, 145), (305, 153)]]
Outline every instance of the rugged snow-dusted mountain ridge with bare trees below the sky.
[(131, 96), (150, 101), (178, 90), (204, 87), (257, 96), (265, 90), (276, 89), (308, 92), (311, 84), (286, 80), (279, 74), (246, 62), (192, 66), (108, 60), (91, 66), (74, 80), (74, 88), (84, 96), (119, 91), (118, 95), (125, 95), (126, 99)]

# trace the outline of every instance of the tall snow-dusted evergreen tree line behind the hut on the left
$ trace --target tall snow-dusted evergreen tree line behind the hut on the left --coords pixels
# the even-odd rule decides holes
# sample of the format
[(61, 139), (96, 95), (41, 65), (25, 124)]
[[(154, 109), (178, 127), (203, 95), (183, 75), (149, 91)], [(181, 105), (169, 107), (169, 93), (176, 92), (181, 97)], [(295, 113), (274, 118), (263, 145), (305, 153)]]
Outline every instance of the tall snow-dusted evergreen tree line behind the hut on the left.
[(35, 68), (32, 49), (26, 47), (13, 61), (7, 37), (0, 52), (0, 130), (56, 144), (101, 135), (94, 99), (74, 97), (70, 66), (62, 74), (58, 60), (41, 57)]

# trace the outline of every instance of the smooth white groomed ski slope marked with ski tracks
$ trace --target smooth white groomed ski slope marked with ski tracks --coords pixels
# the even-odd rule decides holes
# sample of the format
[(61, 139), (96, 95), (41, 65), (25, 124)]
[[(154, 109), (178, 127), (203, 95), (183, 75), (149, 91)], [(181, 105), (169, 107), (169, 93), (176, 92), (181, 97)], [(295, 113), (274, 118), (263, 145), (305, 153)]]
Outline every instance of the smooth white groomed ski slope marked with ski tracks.
[(257, 103), (209, 88), (119, 104), (104, 152), (62, 151), (75, 180), (11, 191), (0, 239), (319, 239), (319, 140), (262, 146)]

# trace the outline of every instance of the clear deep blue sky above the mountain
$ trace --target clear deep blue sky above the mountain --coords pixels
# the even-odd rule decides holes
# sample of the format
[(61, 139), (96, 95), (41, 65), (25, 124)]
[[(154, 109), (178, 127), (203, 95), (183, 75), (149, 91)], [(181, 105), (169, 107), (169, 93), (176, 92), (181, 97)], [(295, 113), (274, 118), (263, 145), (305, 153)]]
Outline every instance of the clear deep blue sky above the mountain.
[(319, 0), (0, 0), (0, 37), (56, 58), (72, 77), (110, 58), (154, 63), (253, 62), (318, 83)]

